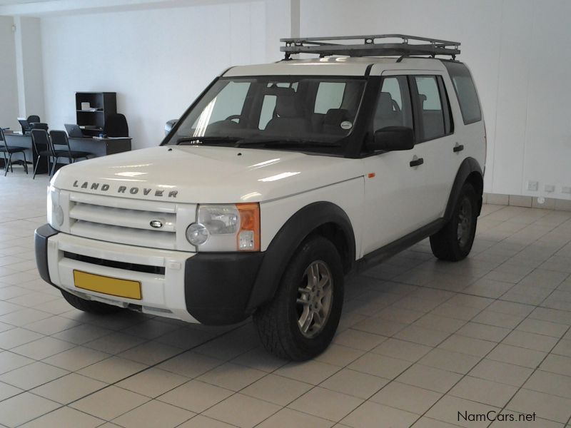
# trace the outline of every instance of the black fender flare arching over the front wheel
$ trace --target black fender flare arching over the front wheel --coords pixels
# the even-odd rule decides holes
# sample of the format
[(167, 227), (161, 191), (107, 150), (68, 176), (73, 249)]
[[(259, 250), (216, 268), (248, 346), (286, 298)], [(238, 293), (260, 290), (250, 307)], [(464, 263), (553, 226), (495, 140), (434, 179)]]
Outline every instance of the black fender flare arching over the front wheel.
[(347, 213), (338, 205), (325, 201), (305, 205), (285, 222), (268, 246), (252, 287), (248, 311), (273, 298), (295, 249), (315, 229), (328, 223), (333, 223), (345, 235), (348, 246), (345, 260), (349, 260), (348, 269), (352, 267), (355, 263), (355, 234)]

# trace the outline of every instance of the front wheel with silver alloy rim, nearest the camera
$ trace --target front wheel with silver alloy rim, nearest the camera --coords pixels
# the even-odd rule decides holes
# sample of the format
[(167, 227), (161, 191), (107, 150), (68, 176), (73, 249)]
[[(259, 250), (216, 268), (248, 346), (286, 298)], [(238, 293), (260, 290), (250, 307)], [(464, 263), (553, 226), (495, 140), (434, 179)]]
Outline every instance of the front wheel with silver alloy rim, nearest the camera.
[(341, 317), (343, 279), (335, 245), (319, 236), (305, 240), (286, 267), (273, 300), (253, 316), (266, 350), (295, 361), (323, 352)]

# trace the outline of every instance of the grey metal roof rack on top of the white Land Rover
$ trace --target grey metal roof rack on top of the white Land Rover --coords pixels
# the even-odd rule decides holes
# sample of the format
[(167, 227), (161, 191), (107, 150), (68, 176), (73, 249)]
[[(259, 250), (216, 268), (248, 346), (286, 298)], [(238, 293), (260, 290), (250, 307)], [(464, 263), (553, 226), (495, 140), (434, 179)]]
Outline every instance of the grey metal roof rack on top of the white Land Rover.
[[(376, 39), (402, 39), (401, 43), (375, 43)], [(363, 40), (363, 44), (338, 44), (336, 41)], [(300, 37), (280, 39), (285, 42), (280, 51), (285, 59), (292, 54), (319, 54), (320, 58), (329, 55), (344, 56), (410, 56), (450, 55), (453, 59), (460, 54), (460, 42), (407, 36), (406, 34), (376, 34), (371, 36)], [(409, 41), (424, 43), (410, 44)], [(331, 43), (333, 42), (333, 43)]]

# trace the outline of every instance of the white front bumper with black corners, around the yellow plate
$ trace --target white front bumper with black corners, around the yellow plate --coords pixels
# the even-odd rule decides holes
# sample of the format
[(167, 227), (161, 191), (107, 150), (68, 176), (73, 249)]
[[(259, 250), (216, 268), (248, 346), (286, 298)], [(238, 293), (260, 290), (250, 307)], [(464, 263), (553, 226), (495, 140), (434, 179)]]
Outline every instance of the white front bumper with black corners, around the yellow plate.
[[(41, 277), (87, 300), (208, 325), (251, 315), (248, 301), (263, 253), (187, 253), (108, 243), (59, 233), (43, 225), (35, 233)], [(84, 290), (74, 270), (141, 282), (141, 300)]]

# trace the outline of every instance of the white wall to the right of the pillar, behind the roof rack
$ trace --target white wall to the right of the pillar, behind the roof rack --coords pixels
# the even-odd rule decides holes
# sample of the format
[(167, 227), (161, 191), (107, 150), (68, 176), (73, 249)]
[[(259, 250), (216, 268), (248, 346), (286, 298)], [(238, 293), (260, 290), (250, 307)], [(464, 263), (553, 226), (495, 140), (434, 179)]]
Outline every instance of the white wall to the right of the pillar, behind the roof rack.
[(300, 16), (302, 35), (460, 41), (485, 114), (485, 190), (571, 198), (561, 191), (571, 186), (571, 1), (302, 0)]

